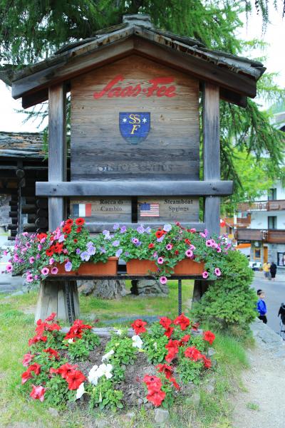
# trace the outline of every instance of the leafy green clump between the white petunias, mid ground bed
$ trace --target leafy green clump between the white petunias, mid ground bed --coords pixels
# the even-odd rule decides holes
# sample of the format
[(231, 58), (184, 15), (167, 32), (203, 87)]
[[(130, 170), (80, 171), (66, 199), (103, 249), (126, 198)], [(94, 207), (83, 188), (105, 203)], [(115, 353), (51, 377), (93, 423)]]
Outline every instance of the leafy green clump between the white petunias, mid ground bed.
[(105, 351), (108, 353), (112, 349), (115, 351), (112, 356), (115, 365), (133, 364), (137, 358), (135, 355), (137, 348), (133, 347), (133, 340), (130, 338), (122, 338), (118, 335), (114, 335), (108, 342)]

